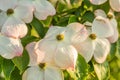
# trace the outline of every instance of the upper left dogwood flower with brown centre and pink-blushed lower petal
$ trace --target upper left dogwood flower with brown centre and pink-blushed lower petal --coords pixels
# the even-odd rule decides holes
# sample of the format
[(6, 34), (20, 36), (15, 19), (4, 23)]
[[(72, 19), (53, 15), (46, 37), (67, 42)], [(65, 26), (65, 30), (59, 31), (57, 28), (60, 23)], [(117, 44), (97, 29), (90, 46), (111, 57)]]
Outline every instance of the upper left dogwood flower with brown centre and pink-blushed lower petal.
[(14, 38), (22, 38), (27, 34), (25, 24), (32, 21), (32, 9), (18, 4), (17, 0), (0, 0), (1, 33)]

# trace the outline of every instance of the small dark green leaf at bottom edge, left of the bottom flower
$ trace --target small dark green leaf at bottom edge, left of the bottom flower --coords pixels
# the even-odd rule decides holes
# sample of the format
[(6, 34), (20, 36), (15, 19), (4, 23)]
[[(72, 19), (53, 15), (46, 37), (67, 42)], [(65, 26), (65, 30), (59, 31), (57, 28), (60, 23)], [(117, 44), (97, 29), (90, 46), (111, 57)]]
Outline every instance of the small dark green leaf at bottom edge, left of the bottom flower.
[(22, 76), (19, 73), (20, 71), (15, 67), (14, 71), (11, 73), (10, 80), (22, 80)]

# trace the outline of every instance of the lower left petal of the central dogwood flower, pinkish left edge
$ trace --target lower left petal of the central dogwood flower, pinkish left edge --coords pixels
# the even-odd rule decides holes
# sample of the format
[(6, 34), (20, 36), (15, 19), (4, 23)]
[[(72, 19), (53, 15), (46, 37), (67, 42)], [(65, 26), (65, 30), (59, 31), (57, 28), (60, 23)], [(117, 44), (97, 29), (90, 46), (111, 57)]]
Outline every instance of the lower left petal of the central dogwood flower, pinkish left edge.
[(40, 63), (53, 63), (53, 55), (55, 53), (56, 45), (54, 41), (40, 40), (35, 46), (35, 53), (38, 56)]

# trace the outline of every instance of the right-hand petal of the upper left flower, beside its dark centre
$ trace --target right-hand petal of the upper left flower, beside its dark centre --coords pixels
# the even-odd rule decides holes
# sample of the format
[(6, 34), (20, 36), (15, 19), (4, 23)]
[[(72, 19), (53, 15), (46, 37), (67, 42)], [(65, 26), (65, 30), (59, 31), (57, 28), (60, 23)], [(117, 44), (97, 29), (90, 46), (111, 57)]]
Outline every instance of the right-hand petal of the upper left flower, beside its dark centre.
[(17, 6), (14, 10), (14, 16), (22, 19), (25, 23), (30, 23), (33, 19), (33, 7)]

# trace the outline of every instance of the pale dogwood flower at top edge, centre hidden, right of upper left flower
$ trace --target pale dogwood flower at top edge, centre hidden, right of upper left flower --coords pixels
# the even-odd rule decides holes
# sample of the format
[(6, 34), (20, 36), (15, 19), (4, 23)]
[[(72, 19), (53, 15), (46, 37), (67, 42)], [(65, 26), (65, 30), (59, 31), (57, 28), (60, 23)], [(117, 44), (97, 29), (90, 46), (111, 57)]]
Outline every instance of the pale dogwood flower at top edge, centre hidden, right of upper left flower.
[(56, 13), (53, 5), (47, 0), (20, 0), (21, 5), (32, 6), (34, 8), (34, 15), (39, 20), (45, 20), (49, 15)]

